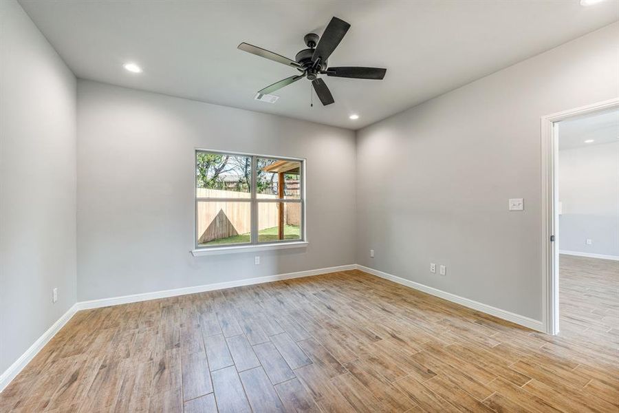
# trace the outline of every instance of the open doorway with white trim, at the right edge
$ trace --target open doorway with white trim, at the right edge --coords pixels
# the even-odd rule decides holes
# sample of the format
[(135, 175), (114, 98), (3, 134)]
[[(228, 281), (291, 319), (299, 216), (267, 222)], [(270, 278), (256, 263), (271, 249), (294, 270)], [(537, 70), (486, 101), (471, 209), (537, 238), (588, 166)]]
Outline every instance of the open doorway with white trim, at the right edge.
[(611, 339), (619, 310), (619, 99), (542, 118), (542, 156), (546, 331)]

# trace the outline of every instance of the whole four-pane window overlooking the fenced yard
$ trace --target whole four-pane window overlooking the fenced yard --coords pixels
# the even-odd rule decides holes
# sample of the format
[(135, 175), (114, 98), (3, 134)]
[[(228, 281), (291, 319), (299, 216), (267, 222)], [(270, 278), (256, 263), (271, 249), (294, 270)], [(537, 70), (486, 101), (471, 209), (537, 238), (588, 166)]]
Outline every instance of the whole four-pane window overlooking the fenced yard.
[(305, 240), (300, 159), (197, 150), (195, 247)]

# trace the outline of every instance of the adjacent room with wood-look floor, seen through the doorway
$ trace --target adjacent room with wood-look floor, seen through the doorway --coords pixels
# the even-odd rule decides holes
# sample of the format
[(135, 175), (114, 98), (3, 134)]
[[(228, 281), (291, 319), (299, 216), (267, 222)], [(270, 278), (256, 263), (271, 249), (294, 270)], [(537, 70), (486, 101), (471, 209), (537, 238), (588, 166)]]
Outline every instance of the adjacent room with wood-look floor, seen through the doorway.
[(559, 330), (617, 348), (619, 109), (556, 127)]

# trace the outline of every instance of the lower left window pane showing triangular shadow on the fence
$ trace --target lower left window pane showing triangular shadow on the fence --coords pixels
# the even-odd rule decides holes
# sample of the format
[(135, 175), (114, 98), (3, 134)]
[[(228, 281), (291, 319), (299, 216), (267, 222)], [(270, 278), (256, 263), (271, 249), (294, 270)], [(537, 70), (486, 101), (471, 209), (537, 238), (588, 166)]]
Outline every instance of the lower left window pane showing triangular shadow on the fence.
[(251, 242), (251, 211), (251, 202), (197, 202), (197, 244)]

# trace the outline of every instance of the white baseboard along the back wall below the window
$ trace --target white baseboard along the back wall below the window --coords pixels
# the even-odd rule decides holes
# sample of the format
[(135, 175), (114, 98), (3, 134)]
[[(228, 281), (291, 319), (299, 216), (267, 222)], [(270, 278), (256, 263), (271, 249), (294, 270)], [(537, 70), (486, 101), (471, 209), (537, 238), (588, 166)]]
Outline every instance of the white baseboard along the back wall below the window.
[(349, 264), (349, 265), (340, 265), (340, 266), (327, 267), (327, 268), (318, 268), (316, 270), (297, 271), (296, 273), (265, 275), (264, 277), (245, 278), (245, 279), (239, 279), (237, 281), (218, 282), (215, 284), (204, 284), (202, 286), (175, 288), (173, 290), (153, 291), (152, 293), (122, 295), (121, 297), (93, 299), (91, 301), (80, 301), (77, 303), (77, 306), (78, 306), (78, 310), (87, 310), (89, 308), (99, 308), (99, 307), (107, 307), (107, 306), (117, 306), (118, 304), (135, 303), (138, 301), (147, 301), (149, 299), (160, 299), (160, 298), (166, 298), (166, 297), (176, 297), (177, 295), (204, 293), (204, 291), (224, 290), (225, 288), (250, 286), (253, 284), (262, 284), (264, 282), (280, 281), (282, 279), (310, 277), (311, 275), (321, 275), (321, 274), (327, 274), (327, 273), (335, 273), (337, 271), (354, 270), (355, 268), (356, 268), (356, 264)]

